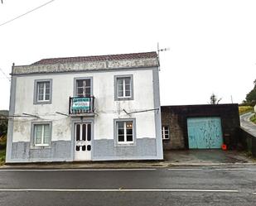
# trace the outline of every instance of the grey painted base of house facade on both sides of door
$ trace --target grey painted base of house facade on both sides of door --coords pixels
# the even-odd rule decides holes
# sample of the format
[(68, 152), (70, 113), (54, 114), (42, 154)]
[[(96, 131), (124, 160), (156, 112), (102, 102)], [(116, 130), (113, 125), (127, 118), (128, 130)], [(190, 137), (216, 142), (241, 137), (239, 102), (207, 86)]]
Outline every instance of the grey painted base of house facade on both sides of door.
[[(7, 163), (74, 161), (71, 141), (51, 141), (51, 147), (31, 147), (27, 141), (12, 143)], [(138, 138), (134, 146), (114, 146), (114, 139), (94, 140), (92, 160), (162, 160), (155, 138)]]

